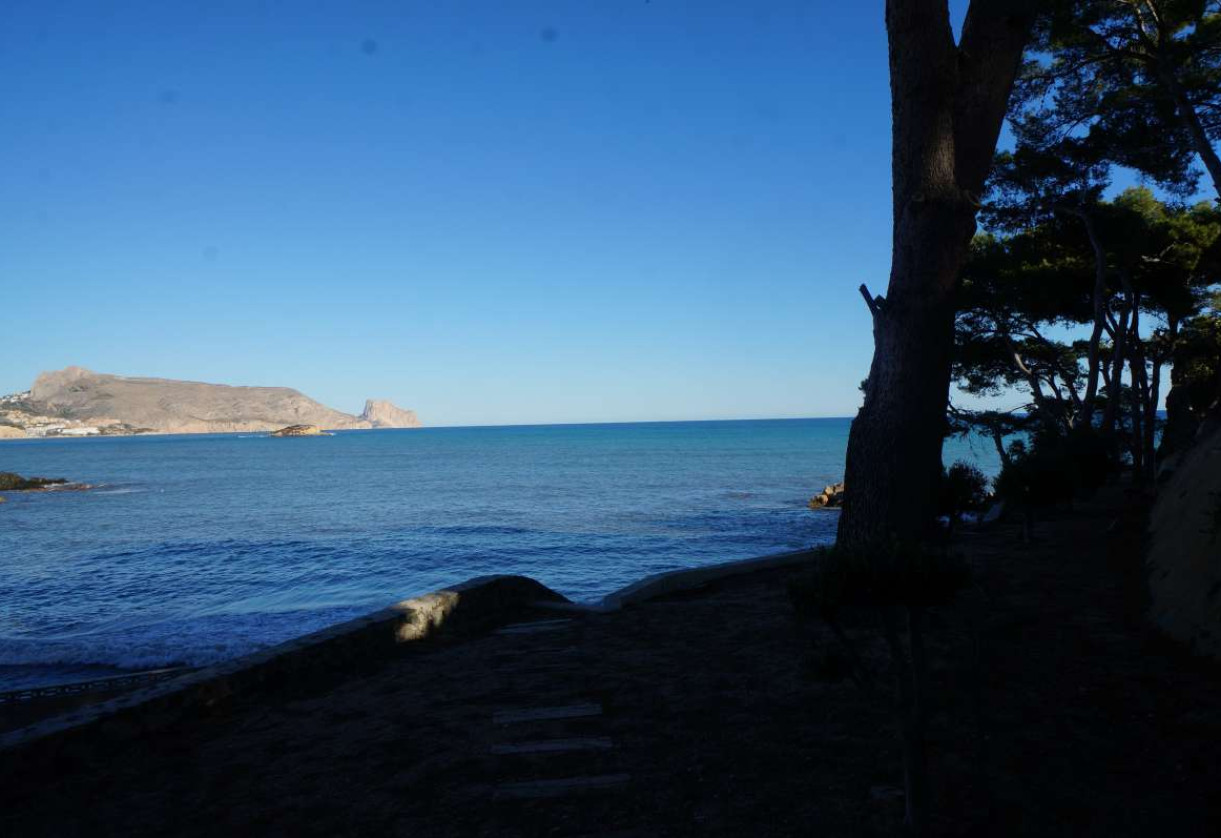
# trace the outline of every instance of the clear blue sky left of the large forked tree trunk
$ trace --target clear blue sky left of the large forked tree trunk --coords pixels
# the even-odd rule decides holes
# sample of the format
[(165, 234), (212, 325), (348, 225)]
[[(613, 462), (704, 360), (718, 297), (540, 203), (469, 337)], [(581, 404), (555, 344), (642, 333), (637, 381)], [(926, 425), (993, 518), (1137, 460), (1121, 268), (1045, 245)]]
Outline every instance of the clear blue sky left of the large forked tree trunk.
[(78, 364), (432, 425), (858, 406), (880, 0), (6, 0), (0, 77), (0, 392)]

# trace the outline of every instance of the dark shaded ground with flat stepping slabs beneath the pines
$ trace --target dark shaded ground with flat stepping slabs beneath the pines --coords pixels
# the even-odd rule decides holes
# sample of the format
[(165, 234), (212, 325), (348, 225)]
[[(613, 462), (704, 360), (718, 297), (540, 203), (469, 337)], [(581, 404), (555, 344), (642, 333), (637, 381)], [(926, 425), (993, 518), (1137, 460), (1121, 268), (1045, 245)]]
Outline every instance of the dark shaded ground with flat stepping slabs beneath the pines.
[[(1114, 496), (1033, 545), (963, 536), (978, 589), (934, 616), (940, 833), (1221, 834), (1221, 671), (1143, 628), (1140, 531)], [(795, 621), (791, 574), (231, 704), (12, 778), (0, 833), (893, 834), (889, 696), (827, 679), (836, 646)], [(873, 619), (853, 628), (880, 667)]]

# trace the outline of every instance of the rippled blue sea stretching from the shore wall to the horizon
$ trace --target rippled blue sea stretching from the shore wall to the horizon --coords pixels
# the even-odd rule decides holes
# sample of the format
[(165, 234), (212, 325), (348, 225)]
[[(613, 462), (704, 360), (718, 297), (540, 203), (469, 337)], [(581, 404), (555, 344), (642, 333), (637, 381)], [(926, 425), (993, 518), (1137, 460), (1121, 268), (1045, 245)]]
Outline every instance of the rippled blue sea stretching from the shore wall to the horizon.
[[(203, 666), (498, 573), (593, 601), (834, 539), (847, 419), (15, 440), (0, 691)], [(946, 462), (995, 472), (980, 440)]]

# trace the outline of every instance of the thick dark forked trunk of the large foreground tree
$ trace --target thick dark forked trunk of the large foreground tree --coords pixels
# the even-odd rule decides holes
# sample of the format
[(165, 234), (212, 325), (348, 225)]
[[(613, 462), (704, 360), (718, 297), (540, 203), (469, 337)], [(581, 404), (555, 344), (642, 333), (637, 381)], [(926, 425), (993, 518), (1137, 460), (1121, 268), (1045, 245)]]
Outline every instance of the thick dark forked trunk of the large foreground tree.
[(921, 540), (934, 519), (952, 294), (1035, 5), (974, 0), (955, 44), (945, 0), (886, 2), (893, 255), (849, 437), (841, 544)]

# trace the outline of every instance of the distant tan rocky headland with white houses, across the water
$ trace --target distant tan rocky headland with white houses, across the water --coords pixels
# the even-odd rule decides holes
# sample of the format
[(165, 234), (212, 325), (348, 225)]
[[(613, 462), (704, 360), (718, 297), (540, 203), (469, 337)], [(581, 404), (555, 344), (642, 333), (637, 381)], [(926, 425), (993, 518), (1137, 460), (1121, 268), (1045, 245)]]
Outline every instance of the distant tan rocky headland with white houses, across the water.
[(360, 415), (333, 410), (289, 387), (143, 379), (81, 366), (43, 373), (26, 392), (0, 396), (0, 440), (26, 436), (122, 436), (420, 428), (414, 410), (369, 399)]

